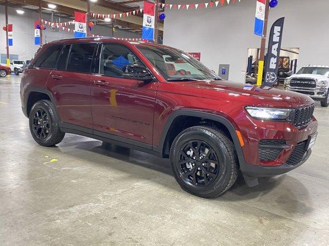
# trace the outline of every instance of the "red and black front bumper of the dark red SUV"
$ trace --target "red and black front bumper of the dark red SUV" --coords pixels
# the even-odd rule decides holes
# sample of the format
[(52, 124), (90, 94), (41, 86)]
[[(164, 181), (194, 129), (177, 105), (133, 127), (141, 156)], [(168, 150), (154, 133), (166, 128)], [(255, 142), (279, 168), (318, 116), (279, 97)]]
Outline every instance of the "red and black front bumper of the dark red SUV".
[[(304, 156), (296, 163), (291, 163), (290, 156), (302, 142), (317, 132), (318, 122), (313, 117), (306, 127), (301, 129), (286, 121), (262, 121), (243, 117), (237, 122), (245, 145), (242, 147), (243, 157), (239, 156), (240, 169), (250, 177), (265, 177), (280, 175), (301, 166), (309, 157), (311, 151), (305, 151)], [(243, 122), (242, 122), (243, 121)], [(285, 148), (272, 160), (261, 160), (259, 146), (261, 140), (283, 140)], [(297, 148), (296, 148), (297, 150)], [(289, 163), (289, 164), (288, 164)]]

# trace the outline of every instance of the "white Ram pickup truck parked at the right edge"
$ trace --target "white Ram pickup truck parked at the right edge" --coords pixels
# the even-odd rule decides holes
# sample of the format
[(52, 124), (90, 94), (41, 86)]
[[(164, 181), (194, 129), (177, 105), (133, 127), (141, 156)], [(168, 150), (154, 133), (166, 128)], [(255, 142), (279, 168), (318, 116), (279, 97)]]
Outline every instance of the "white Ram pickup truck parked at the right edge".
[(284, 88), (309, 95), (321, 101), (322, 107), (329, 106), (329, 66), (304, 66), (296, 74), (284, 80)]

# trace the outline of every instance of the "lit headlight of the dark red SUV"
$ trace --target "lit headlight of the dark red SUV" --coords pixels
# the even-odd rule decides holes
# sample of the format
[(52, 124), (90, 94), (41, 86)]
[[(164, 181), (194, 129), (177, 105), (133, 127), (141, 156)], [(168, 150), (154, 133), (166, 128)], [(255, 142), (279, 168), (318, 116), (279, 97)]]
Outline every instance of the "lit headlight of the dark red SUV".
[(287, 119), (291, 109), (271, 109), (271, 108), (258, 108), (246, 107), (248, 114), (255, 119), (272, 120), (272, 119)]

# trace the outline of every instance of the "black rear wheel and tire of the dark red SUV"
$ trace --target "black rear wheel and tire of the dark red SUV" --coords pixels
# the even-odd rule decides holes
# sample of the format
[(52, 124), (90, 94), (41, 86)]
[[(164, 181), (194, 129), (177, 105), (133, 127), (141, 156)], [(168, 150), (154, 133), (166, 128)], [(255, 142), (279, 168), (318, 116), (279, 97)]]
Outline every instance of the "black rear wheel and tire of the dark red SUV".
[(41, 146), (59, 144), (65, 133), (59, 128), (59, 120), (54, 106), (49, 100), (37, 101), (29, 114), (30, 132)]

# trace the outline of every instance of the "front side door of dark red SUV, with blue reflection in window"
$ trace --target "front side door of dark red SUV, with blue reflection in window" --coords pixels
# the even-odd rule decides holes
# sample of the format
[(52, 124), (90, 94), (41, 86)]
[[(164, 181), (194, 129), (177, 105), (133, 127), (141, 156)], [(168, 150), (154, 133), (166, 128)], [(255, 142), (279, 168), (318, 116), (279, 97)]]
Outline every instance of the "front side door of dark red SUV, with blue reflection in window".
[(125, 66), (144, 65), (122, 45), (103, 44), (99, 64), (91, 91), (94, 134), (150, 148), (158, 83), (123, 77)]

